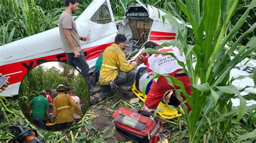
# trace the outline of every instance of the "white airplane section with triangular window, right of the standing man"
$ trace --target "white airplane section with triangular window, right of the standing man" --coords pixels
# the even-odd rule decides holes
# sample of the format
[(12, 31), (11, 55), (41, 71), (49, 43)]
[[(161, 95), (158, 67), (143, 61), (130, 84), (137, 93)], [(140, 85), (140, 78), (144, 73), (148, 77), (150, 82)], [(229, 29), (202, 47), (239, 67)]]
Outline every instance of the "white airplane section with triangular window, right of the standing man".
[(117, 35), (116, 23), (109, 0), (93, 1), (76, 20), (79, 35), (91, 33), (90, 42), (80, 41), (85, 59), (90, 67), (95, 66), (99, 55), (114, 42)]

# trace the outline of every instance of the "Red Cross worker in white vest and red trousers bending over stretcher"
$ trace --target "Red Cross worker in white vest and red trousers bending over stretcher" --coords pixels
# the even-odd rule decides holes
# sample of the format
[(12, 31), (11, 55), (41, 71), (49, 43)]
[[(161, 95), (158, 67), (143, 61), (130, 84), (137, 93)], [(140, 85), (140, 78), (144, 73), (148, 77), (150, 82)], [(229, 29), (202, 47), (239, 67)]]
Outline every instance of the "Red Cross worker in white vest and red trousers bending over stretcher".
[[(181, 55), (178, 47), (176, 46), (160, 48), (158, 51), (173, 53), (179, 61), (185, 62), (185, 58)], [(168, 74), (174, 78), (177, 78), (178, 81), (183, 82), (187, 94), (192, 95), (190, 78), (187, 74), (185, 74), (183, 67), (181, 67), (177, 60), (171, 55), (152, 54), (147, 62), (147, 72), (149, 73), (149, 76), (152, 76), (152, 72), (156, 72), (159, 74)], [(176, 89), (180, 89), (180, 87), (177, 87), (176, 85), (174, 85), (174, 87)], [(174, 87), (167, 83), (166, 78), (163, 76), (155, 78), (150, 87), (149, 94), (147, 94), (143, 109), (149, 112), (157, 109), (157, 106), (163, 99), (165, 92), (174, 90)], [(185, 101), (186, 98), (182, 93), (181, 97), (183, 97), (183, 101)], [(188, 108), (188, 112), (190, 112), (190, 105), (188, 105), (187, 102), (185, 105)]]

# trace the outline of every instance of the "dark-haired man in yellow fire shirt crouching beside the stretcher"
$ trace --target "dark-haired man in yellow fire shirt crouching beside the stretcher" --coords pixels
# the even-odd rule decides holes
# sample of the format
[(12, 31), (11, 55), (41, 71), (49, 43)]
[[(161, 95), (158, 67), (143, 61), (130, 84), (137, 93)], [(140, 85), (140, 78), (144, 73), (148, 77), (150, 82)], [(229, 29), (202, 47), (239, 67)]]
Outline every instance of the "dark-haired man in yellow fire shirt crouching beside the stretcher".
[(91, 105), (113, 96), (116, 92), (118, 97), (126, 98), (133, 95), (131, 89), (136, 75), (133, 69), (137, 63), (130, 64), (125, 59), (125, 54), (122, 51), (125, 49), (125, 43), (125, 35), (117, 34), (114, 44), (103, 52), (99, 77), (101, 92), (92, 97)]

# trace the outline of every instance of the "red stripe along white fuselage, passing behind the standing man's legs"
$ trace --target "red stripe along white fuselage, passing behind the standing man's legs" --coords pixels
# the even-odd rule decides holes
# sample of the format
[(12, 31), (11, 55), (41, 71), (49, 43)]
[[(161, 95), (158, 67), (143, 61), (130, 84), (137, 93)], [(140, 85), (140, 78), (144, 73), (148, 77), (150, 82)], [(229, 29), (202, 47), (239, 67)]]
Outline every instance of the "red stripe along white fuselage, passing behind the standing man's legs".
[[(104, 51), (104, 49), (107, 46), (110, 46), (111, 44), (112, 43), (82, 49), (83, 51), (86, 51), (86, 53), (87, 53), (87, 55), (85, 56), (85, 59), (91, 60), (91, 59), (95, 59), (95, 58), (99, 57), (99, 55)], [(90, 54), (90, 53), (93, 53), (93, 54)], [(56, 54), (56, 55), (49, 55), (49, 56), (44, 56), (41, 58), (10, 63), (8, 65), (3, 65), (3, 66), (0, 66), (0, 69), (1, 69), (0, 73), (2, 73), (3, 75), (16, 73), (16, 74), (9, 75), (10, 76), (10, 79), (9, 79), (10, 84), (14, 84), (14, 83), (21, 82), (23, 77), (26, 75), (27, 71), (30, 70), (31, 68), (33, 68), (45, 61), (56, 61), (56, 60), (66, 62), (66, 54), (60, 53), (60, 54)], [(22, 71), (22, 72), (17, 73), (19, 71)]]

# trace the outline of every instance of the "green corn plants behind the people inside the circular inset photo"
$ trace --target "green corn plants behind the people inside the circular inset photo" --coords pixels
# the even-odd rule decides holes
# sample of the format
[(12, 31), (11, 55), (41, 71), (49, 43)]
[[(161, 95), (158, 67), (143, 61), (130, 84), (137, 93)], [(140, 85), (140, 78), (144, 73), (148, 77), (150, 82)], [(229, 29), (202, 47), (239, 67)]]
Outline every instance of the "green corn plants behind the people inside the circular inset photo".
[[(74, 69), (71, 66), (69, 67), (70, 68), (66, 70)], [(79, 74), (73, 75), (72, 78), (68, 78), (69, 75), (63, 76), (63, 73), (69, 73), (69, 71), (63, 71), (61, 73), (57, 68), (53, 67), (45, 69), (43, 66), (39, 65), (26, 74), (21, 83), (21, 87), (19, 88), (19, 105), (21, 106), (25, 117), (30, 117), (26, 105), (28, 105), (33, 97), (38, 96), (40, 91), (45, 89), (56, 89), (59, 84), (65, 85), (67, 83), (70, 83), (70, 88), (75, 92), (75, 95), (83, 101), (82, 111), (87, 111), (90, 93), (82, 74), (77, 71)]]

